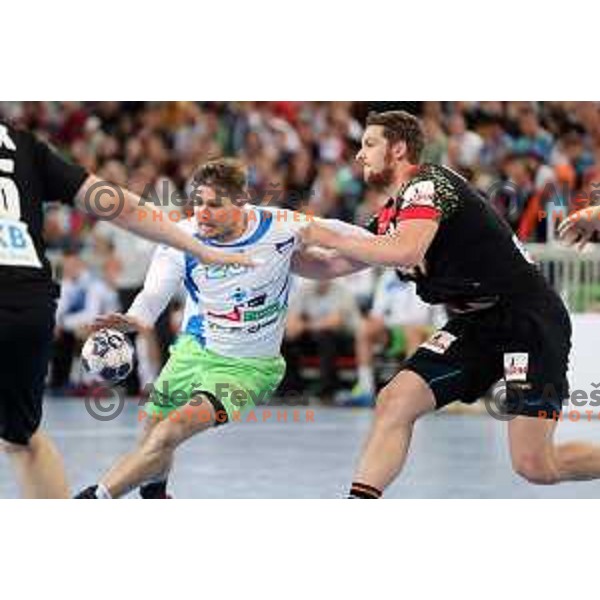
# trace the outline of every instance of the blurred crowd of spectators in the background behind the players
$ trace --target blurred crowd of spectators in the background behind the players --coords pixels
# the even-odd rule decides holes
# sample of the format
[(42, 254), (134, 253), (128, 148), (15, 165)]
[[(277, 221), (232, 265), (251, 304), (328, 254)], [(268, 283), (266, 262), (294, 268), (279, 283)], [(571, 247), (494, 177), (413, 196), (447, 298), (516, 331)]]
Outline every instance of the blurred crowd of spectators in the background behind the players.
[[(173, 197), (189, 191), (199, 164), (237, 156), (249, 166), (257, 202), (358, 224), (385, 198), (365, 188), (354, 156), (368, 112), (389, 109), (421, 117), (423, 162), (460, 172), (524, 242), (553, 242), (557, 207), (596, 203), (595, 195), (600, 201), (600, 105), (594, 102), (0, 102), (0, 116), (34, 131), (100, 177), (151, 197), (165, 213), (185, 210)], [(64, 206), (47, 208), (45, 237), (67, 284), (51, 379), (62, 393), (73, 385), (71, 359), (90, 316), (128, 308), (143, 284), (152, 245)], [(299, 290), (300, 296), (332, 298), (336, 318), (325, 319), (321, 333), (319, 326), (312, 331), (317, 347), (331, 348), (322, 343), (327, 330), (349, 332), (355, 356), (364, 358), (365, 339), (376, 345), (380, 325), (369, 324), (369, 318), (378, 277), (368, 273), (346, 284), (349, 297), (341, 307), (339, 290), (331, 294), (328, 286), (319, 290), (308, 284)], [(157, 336), (138, 348), (147, 360), (131, 391), (152, 379), (164, 361), (179, 312), (174, 303)], [(300, 322), (308, 322), (310, 312), (299, 309)], [(431, 317), (421, 321), (426, 327)], [(290, 323), (290, 340), (311, 333), (293, 317)], [(406, 351), (413, 332), (403, 328), (400, 346)], [(329, 365), (331, 352), (325, 354), (322, 362)], [(327, 393), (338, 386), (335, 380), (325, 383)]]

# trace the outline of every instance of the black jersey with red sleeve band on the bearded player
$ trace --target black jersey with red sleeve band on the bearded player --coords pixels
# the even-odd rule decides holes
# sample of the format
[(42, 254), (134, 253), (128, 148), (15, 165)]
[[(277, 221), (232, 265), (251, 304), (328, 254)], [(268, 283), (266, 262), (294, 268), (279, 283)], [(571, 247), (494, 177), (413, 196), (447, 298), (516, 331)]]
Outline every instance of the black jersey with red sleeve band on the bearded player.
[(505, 301), (535, 304), (555, 292), (509, 226), (460, 175), (423, 164), (368, 225), (380, 235), (407, 219), (435, 219), (438, 231), (422, 265), (399, 269), (429, 304), (456, 309)]

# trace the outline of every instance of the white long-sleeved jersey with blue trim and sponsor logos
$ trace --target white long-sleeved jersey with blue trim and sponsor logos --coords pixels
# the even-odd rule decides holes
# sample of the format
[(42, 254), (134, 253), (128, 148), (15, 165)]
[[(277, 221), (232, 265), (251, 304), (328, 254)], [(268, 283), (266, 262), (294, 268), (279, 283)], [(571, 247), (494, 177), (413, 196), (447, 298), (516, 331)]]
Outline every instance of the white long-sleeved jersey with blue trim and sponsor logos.
[[(182, 332), (222, 356), (278, 356), (292, 284), (292, 255), (301, 243), (300, 230), (314, 217), (277, 208), (252, 206), (246, 211), (246, 232), (229, 243), (201, 238), (193, 217), (180, 227), (213, 248), (251, 253), (256, 266), (205, 265), (190, 254), (160, 246), (128, 314), (154, 323), (183, 283), (187, 297)], [(339, 221), (326, 223), (354, 229)]]

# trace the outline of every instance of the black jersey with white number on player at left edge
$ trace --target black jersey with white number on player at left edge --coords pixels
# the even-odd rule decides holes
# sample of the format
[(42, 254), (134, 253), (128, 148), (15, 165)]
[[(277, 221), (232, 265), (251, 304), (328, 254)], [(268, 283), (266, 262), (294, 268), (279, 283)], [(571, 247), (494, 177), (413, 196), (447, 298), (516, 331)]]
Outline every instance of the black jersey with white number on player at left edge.
[(58, 295), (42, 239), (43, 203), (72, 204), (85, 169), (29, 132), (0, 121), (0, 305), (47, 304)]

